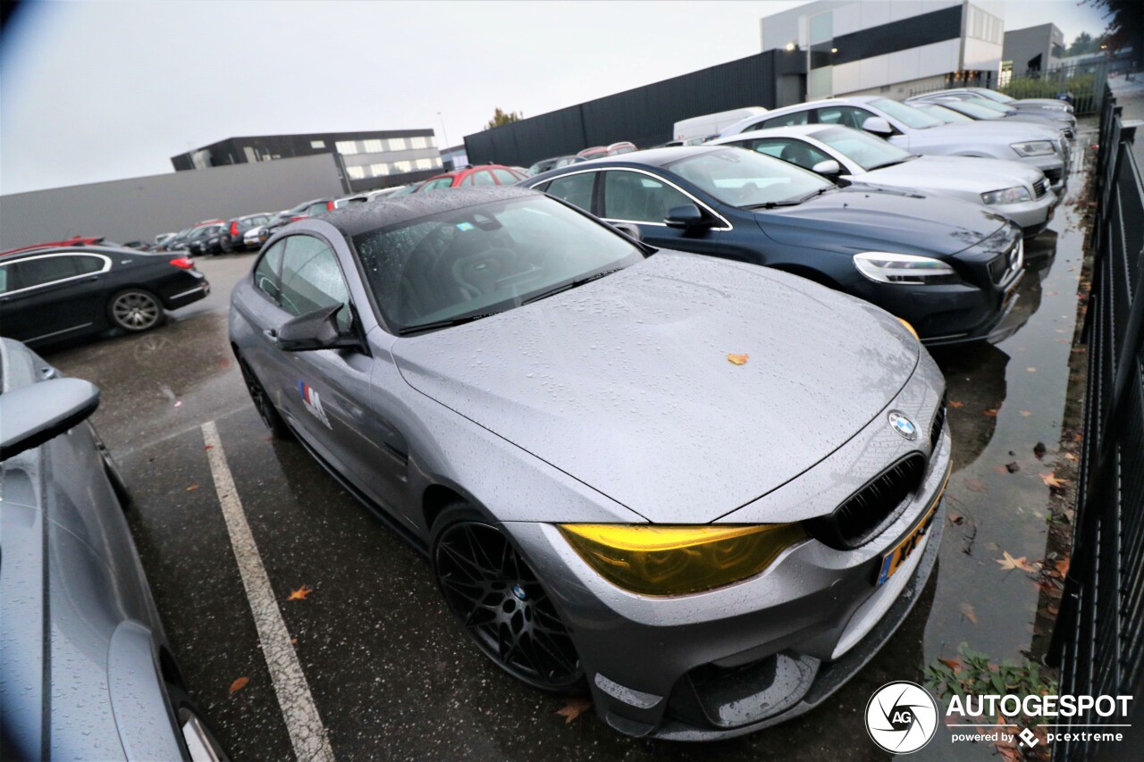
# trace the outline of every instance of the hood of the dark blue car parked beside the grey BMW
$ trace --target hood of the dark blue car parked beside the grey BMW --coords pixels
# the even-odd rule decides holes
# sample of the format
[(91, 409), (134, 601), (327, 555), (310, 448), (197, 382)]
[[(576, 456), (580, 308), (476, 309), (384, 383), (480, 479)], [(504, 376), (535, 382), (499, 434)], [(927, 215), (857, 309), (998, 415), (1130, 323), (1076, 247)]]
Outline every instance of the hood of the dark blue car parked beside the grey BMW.
[(755, 219), (769, 238), (781, 244), (927, 256), (956, 254), (1008, 224), (1007, 217), (980, 204), (859, 185), (797, 206), (760, 211)]

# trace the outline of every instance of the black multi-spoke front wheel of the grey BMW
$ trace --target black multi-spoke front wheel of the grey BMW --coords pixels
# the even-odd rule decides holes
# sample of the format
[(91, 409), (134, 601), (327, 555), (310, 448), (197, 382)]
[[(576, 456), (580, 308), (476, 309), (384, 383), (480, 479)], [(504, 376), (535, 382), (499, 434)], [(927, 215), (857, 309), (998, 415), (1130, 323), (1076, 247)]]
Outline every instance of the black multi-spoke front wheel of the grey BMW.
[(448, 608), (496, 666), (541, 690), (583, 690), (556, 606), (503, 532), (456, 503), (434, 525), (432, 565)]

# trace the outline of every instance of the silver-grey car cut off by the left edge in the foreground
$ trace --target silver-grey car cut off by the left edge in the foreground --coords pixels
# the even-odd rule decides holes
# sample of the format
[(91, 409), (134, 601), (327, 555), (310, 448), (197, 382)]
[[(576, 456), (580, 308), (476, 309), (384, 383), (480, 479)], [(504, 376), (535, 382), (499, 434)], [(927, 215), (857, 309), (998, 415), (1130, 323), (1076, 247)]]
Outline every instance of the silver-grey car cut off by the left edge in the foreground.
[(85, 419), (98, 390), (0, 339), (0, 759), (225, 755), (183, 692)]

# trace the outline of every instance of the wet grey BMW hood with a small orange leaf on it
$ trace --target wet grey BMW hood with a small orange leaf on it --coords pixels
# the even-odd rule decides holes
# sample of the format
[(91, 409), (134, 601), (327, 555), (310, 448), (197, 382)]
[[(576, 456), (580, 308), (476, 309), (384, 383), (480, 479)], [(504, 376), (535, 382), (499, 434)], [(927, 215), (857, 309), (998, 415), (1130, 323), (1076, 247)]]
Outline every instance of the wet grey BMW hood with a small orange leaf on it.
[(802, 278), (662, 251), (392, 351), (421, 392), (648, 519), (706, 523), (856, 435), (919, 346)]

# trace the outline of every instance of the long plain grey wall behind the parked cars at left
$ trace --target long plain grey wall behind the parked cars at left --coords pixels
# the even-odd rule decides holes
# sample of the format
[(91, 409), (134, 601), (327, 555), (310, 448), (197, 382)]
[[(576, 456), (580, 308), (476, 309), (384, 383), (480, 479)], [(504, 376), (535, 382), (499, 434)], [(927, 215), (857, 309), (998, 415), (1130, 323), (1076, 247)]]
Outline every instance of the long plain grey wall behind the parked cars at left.
[(153, 240), (214, 217), (341, 196), (329, 153), (0, 196), (0, 251), (72, 236)]

